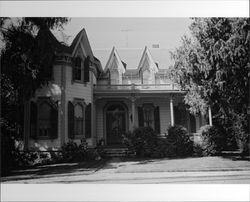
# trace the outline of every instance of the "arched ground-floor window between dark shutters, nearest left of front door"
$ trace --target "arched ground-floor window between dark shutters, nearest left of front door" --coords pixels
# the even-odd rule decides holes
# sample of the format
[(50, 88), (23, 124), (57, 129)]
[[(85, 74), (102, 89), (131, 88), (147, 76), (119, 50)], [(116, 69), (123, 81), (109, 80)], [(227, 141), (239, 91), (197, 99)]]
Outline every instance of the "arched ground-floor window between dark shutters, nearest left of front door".
[(83, 135), (83, 106), (76, 104), (74, 109), (74, 134)]

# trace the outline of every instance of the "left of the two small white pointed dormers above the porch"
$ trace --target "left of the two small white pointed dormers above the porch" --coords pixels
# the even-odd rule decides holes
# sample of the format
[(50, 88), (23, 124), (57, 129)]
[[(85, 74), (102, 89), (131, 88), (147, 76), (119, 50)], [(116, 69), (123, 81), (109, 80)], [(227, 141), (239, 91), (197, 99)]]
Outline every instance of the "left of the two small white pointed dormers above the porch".
[(120, 59), (118, 52), (113, 47), (104, 69), (104, 72), (109, 75), (110, 84), (122, 84), (122, 75), (125, 71), (126, 64)]

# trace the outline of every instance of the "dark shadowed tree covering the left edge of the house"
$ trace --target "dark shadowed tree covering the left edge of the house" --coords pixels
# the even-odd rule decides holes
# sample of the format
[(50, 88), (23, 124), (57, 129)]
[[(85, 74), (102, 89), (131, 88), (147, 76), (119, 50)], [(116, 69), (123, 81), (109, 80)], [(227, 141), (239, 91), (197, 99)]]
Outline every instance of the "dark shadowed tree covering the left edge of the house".
[[(22, 137), (25, 103), (51, 79), (56, 46), (48, 40), (49, 29), (62, 28), (68, 21), (68, 18), (0, 19), (2, 137)], [(37, 36), (39, 30), (43, 34)], [(4, 145), (2, 141), (1, 148)]]

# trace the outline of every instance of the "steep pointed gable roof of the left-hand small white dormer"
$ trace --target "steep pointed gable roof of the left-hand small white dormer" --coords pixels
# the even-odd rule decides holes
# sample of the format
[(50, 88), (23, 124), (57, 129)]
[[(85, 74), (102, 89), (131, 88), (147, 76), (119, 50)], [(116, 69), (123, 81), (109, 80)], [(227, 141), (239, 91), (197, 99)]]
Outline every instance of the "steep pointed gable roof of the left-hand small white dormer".
[(125, 73), (126, 71), (126, 63), (123, 62), (117, 52), (117, 50), (115, 49), (115, 47), (113, 47), (108, 62), (105, 66), (104, 71), (107, 72), (110, 68), (112, 68), (112, 64), (115, 62), (115, 68), (118, 69), (119, 72), (121, 73)]

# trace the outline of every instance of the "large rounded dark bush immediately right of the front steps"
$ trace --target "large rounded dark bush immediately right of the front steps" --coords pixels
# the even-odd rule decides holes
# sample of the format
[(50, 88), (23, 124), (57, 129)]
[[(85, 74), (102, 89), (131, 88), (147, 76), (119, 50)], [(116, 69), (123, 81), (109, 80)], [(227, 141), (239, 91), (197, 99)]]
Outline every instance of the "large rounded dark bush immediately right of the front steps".
[(157, 144), (157, 135), (152, 128), (136, 128), (128, 138), (131, 139), (131, 142), (129, 140), (127, 142), (131, 144), (136, 156), (151, 157)]

